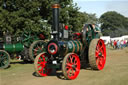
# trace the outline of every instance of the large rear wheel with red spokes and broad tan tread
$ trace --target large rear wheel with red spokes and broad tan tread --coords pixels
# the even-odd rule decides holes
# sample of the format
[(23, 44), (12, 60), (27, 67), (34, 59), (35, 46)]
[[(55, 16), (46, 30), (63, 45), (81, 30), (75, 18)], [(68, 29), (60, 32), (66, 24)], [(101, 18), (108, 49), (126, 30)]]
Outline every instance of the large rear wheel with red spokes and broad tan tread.
[(89, 46), (89, 64), (94, 70), (102, 70), (106, 63), (106, 47), (102, 39), (93, 39)]

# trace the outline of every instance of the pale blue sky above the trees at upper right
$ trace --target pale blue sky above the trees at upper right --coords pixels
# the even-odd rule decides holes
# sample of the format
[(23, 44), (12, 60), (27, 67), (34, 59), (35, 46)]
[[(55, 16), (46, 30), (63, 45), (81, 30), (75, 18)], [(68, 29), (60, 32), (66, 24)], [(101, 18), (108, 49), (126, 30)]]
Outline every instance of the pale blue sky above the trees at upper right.
[(99, 18), (107, 11), (116, 11), (128, 17), (128, 0), (73, 0), (80, 7), (80, 11), (96, 13)]

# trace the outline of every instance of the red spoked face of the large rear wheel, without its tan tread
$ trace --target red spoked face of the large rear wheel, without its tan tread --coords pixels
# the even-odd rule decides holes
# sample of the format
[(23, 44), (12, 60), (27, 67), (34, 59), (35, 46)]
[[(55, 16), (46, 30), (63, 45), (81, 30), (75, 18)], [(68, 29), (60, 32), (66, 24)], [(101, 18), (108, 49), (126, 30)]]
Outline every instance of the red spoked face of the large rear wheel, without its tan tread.
[(104, 68), (106, 62), (106, 47), (103, 40), (99, 40), (96, 46), (96, 65), (99, 70)]

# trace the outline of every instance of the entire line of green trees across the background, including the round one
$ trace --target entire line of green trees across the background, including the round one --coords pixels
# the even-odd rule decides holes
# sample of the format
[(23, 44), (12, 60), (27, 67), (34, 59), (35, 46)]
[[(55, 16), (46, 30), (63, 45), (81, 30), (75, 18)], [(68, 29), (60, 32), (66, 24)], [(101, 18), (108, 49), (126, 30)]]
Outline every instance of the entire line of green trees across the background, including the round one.
[[(20, 34), (23, 30), (48, 33), (52, 25), (54, 0), (0, 0), (0, 30)], [(104, 13), (99, 19), (96, 14), (80, 12), (73, 0), (59, 0), (60, 23), (73, 32), (80, 32), (85, 23), (101, 23), (104, 35), (120, 36), (128, 33), (128, 18), (117, 12)]]

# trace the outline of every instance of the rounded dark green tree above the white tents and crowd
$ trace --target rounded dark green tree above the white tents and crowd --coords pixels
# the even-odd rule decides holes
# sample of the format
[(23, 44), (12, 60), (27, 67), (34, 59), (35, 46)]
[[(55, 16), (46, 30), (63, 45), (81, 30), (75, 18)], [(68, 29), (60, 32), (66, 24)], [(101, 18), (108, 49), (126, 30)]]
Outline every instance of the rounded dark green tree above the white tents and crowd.
[(101, 28), (104, 35), (112, 37), (121, 36), (128, 33), (127, 19), (123, 15), (109, 11), (100, 17)]

